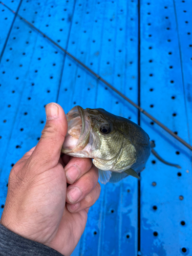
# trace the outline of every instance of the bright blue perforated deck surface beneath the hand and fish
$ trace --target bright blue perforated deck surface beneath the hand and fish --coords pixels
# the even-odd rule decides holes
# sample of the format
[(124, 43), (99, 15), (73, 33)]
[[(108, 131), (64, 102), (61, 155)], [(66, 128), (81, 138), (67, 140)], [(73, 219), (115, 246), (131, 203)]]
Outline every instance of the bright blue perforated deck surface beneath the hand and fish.
[[(170, 130), (192, 143), (192, 5), (189, 0), (5, 0)], [(0, 5), (0, 205), (13, 164), (36, 145), (45, 105), (103, 108), (138, 123), (138, 111)], [(101, 185), (73, 256), (192, 255), (191, 152), (150, 119), (157, 152), (141, 181)], [(138, 250), (139, 253), (138, 253)]]

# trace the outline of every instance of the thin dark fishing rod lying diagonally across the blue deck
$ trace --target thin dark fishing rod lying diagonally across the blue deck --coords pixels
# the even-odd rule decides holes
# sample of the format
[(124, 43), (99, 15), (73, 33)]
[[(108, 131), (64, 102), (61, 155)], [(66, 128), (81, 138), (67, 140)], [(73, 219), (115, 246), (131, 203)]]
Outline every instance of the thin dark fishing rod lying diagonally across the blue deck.
[(10, 7), (8, 7), (7, 5), (5, 5), (3, 2), (0, 1), (0, 4), (2, 4), (3, 6), (5, 6), (7, 9), (9, 9), (12, 13), (14, 13), (16, 16), (18, 16), (20, 19), (24, 20), (25, 23), (27, 23), (30, 27), (32, 27), (33, 29), (35, 29), (38, 33), (40, 33), (43, 37), (47, 38), (50, 42), (52, 42), (52, 44), (54, 44), (56, 47), (58, 47), (62, 52), (65, 52), (68, 56), (70, 56), (73, 60), (75, 60), (77, 63), (79, 63), (84, 69), (88, 70), (92, 75), (94, 75), (96, 78), (98, 78), (100, 81), (102, 81), (106, 86), (108, 86), (110, 89), (112, 89), (114, 92), (116, 92), (119, 96), (121, 96), (123, 99), (125, 99), (126, 101), (128, 101), (130, 104), (132, 104), (133, 106), (135, 106), (136, 109), (138, 109), (141, 113), (143, 113), (145, 116), (147, 116), (148, 118), (150, 118), (151, 120), (153, 120), (155, 123), (157, 123), (162, 129), (164, 129), (167, 133), (169, 133), (170, 135), (172, 135), (175, 139), (177, 139), (178, 141), (180, 141), (183, 145), (185, 145), (190, 151), (192, 151), (192, 146), (190, 144), (188, 144), (185, 140), (183, 140), (181, 137), (179, 137), (178, 135), (176, 135), (174, 132), (172, 132), (170, 129), (168, 129), (168, 127), (166, 127), (163, 123), (161, 123), (160, 121), (158, 121), (155, 117), (153, 117), (152, 115), (148, 114), (145, 110), (143, 110), (140, 106), (138, 106), (136, 103), (134, 103), (131, 99), (127, 98), (124, 94), (122, 94), (120, 91), (118, 91), (115, 87), (113, 87), (109, 82), (107, 82), (106, 80), (104, 80), (102, 77), (100, 77), (98, 74), (96, 74), (93, 70), (91, 70), (89, 67), (87, 67), (86, 65), (84, 65), (84, 63), (82, 63), (80, 60), (78, 60), (76, 57), (74, 57), (71, 53), (69, 53), (68, 51), (66, 51), (64, 48), (62, 48), (60, 45), (57, 44), (57, 42), (55, 42), (53, 39), (51, 39), (49, 36), (47, 36), (45, 33), (43, 33), (42, 31), (40, 31), (39, 29), (37, 29), (33, 24), (31, 24), (30, 22), (28, 22), (27, 19), (25, 19), (24, 17), (20, 16), (18, 13), (16, 13), (15, 11), (13, 11)]

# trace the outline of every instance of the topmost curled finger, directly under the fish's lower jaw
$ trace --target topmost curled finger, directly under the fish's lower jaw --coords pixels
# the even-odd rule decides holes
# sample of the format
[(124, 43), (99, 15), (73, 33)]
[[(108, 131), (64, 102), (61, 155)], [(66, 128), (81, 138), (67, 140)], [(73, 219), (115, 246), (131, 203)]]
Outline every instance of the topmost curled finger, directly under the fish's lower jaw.
[(64, 170), (66, 173), (67, 183), (73, 184), (82, 175), (86, 174), (92, 166), (91, 158), (72, 157)]

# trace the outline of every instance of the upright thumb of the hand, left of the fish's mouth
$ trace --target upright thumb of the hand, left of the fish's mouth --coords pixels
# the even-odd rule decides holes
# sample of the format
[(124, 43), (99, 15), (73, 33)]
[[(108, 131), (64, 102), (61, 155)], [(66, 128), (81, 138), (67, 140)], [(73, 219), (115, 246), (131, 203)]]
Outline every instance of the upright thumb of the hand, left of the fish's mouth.
[(39, 166), (53, 168), (58, 164), (61, 147), (68, 129), (66, 114), (57, 103), (46, 105), (46, 125), (31, 159)]

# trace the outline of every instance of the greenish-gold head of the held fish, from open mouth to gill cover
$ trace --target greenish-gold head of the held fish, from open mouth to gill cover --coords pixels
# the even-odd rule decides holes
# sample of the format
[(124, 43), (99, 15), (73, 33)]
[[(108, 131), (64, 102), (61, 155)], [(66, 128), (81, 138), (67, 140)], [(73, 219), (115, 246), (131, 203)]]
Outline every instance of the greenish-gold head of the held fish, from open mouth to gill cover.
[(93, 158), (101, 170), (123, 172), (136, 162), (136, 150), (121, 118), (103, 109), (75, 106), (67, 114), (68, 133), (61, 152)]

